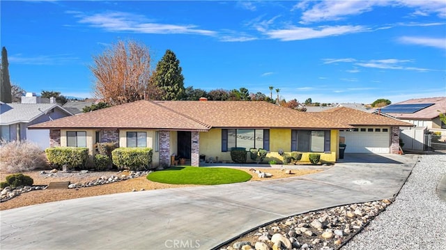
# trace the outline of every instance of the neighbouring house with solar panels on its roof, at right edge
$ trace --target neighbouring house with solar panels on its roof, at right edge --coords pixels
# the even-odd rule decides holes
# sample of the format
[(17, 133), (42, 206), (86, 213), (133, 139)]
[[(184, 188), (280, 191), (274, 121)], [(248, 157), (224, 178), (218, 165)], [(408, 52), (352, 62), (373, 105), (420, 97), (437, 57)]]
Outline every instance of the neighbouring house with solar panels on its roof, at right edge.
[(401, 127), (403, 149), (425, 150), (429, 145), (429, 132), (440, 133), (446, 139), (446, 124), (440, 120), (440, 112), (446, 112), (446, 97), (411, 99), (378, 109), (375, 113), (399, 118), (414, 127)]

